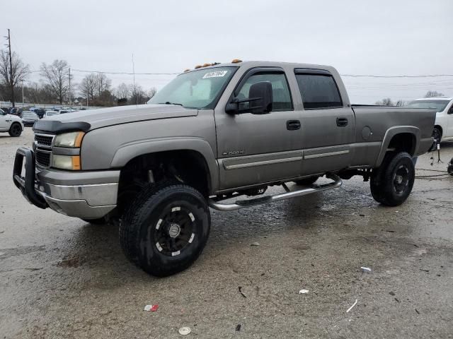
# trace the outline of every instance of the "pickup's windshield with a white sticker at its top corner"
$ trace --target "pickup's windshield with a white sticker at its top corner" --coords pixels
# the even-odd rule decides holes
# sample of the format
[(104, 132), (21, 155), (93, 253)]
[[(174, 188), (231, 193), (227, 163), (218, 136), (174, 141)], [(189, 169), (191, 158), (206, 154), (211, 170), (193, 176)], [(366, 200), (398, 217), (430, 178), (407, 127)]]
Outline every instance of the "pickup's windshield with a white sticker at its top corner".
[(216, 67), (180, 74), (148, 103), (213, 109), (236, 69), (238, 68)]

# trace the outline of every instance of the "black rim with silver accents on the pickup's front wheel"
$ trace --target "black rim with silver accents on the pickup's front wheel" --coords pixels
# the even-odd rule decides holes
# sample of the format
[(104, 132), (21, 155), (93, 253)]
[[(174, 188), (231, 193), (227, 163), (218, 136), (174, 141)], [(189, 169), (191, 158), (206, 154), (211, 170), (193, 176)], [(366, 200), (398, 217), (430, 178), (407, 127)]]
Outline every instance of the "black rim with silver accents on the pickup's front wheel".
[(156, 249), (166, 256), (179, 256), (195, 239), (195, 216), (182, 206), (166, 208), (152, 227)]

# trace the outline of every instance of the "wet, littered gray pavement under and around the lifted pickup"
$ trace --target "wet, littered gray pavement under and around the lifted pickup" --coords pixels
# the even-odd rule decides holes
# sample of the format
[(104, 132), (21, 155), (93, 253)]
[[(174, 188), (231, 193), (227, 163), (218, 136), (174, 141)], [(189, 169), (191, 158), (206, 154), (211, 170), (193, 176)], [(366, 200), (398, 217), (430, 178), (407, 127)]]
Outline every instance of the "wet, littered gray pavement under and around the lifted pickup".
[[(180, 338), (183, 326), (185, 338), (453, 338), (453, 177), (417, 179), (396, 208), (354, 177), (335, 191), (212, 210), (197, 262), (153, 278), (123, 256), (115, 227), (24, 200), (11, 172), (31, 141), (30, 128), (0, 134), (0, 338)], [(417, 174), (442, 174), (423, 169), (445, 171), (452, 157), (443, 144), (444, 163), (423, 155)]]

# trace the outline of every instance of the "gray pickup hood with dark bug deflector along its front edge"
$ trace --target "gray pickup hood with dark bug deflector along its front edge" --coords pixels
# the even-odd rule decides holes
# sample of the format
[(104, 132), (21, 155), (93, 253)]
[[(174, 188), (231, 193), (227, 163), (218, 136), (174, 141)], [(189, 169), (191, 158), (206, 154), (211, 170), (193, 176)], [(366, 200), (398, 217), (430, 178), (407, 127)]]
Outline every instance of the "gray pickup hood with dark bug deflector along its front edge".
[(86, 111), (56, 114), (36, 122), (33, 130), (52, 133), (90, 131), (100, 127), (128, 124), (136, 121), (195, 117), (197, 109), (179, 105), (131, 105), (88, 109)]

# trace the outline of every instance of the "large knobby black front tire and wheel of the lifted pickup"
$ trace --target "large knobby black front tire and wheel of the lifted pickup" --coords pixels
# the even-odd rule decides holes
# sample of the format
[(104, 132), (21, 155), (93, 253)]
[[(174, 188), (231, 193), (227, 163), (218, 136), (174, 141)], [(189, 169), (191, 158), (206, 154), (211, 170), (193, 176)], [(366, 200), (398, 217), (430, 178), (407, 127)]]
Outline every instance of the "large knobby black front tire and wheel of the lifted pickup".
[(156, 184), (126, 209), (120, 244), (132, 263), (164, 277), (185, 270), (200, 256), (210, 225), (210, 210), (200, 192), (183, 184)]

